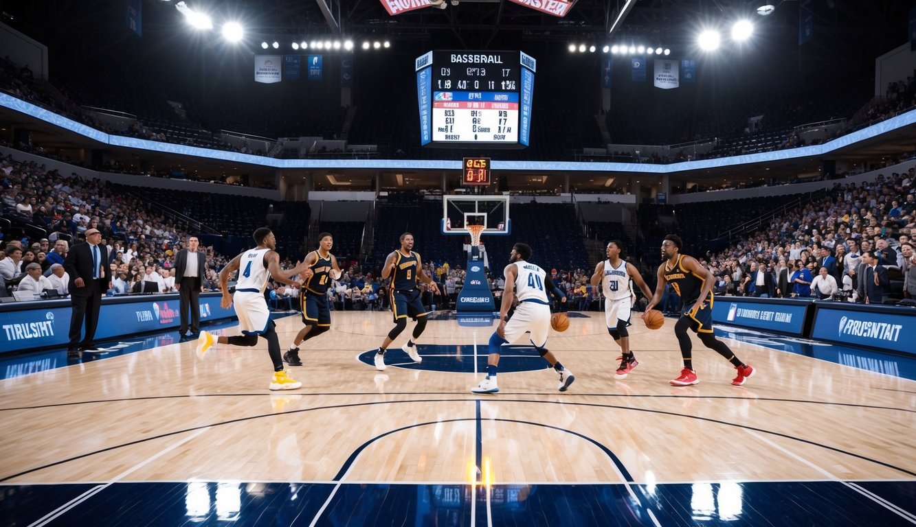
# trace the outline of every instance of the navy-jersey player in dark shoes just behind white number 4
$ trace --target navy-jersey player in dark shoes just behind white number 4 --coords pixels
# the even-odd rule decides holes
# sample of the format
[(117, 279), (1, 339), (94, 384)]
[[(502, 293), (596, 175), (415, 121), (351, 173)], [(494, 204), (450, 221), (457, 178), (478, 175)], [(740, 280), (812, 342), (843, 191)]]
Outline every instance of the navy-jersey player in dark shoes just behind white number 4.
[(330, 232), (318, 235), (318, 250), (312, 251), (302, 263), (311, 269), (311, 276), (302, 284), (299, 296), (300, 309), (302, 310), (302, 323), (299, 334), (292, 341), (283, 360), (290, 366), (301, 366), (299, 347), (302, 342), (318, 337), (331, 329), (331, 307), (328, 305), (328, 286), (332, 280), (341, 277), (341, 268), (337, 258), (331, 253), (334, 239)]

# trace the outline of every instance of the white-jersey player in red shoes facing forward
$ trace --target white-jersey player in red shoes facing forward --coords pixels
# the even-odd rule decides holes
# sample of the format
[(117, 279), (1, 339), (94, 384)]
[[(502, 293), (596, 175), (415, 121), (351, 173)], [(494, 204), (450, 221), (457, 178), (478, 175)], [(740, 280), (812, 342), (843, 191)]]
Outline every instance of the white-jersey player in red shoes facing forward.
[(612, 240), (607, 243), (605, 253), (607, 260), (599, 262), (594, 267), (592, 285), (601, 285), (601, 293), (605, 296), (605, 324), (607, 332), (620, 346), (623, 354), (620, 357), (620, 366), (615, 373), (617, 379), (626, 379), (630, 371), (639, 364), (633, 351), (629, 348), (630, 310), (633, 307), (635, 294), (630, 285), (630, 278), (636, 282), (639, 290), (646, 298), (652, 297), (649, 285), (642, 279), (642, 275), (633, 264), (628, 264), (620, 258), (620, 242)]

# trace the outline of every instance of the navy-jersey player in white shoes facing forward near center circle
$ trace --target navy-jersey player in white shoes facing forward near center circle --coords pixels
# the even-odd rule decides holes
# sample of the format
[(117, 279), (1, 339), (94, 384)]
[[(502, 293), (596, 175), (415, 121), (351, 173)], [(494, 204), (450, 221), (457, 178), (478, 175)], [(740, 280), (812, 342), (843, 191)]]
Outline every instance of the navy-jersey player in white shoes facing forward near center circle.
[(397, 251), (392, 251), (385, 259), (385, 265), (382, 267), (382, 280), (391, 276), (391, 286), (389, 293), (391, 300), (391, 311), (395, 317), (395, 327), (388, 332), (387, 337), (382, 345), (376, 350), (376, 370), (383, 371), (385, 365), (385, 350), (391, 345), (394, 339), (398, 338), (401, 331), (407, 328), (407, 317), (417, 321), (417, 326), (413, 328), (413, 336), (407, 341), (402, 350), (404, 350), (410, 360), (420, 362), (423, 360), (417, 351), (417, 339), (426, 328), (426, 316), (429, 314), (423, 303), (420, 301), (420, 289), (417, 287), (417, 280), (428, 285), (433, 294), (439, 294), (439, 286), (432, 280), (430, 275), (423, 271), (423, 263), (420, 260), (420, 253), (413, 252), (413, 234), (405, 232), (400, 235), (401, 246)]

